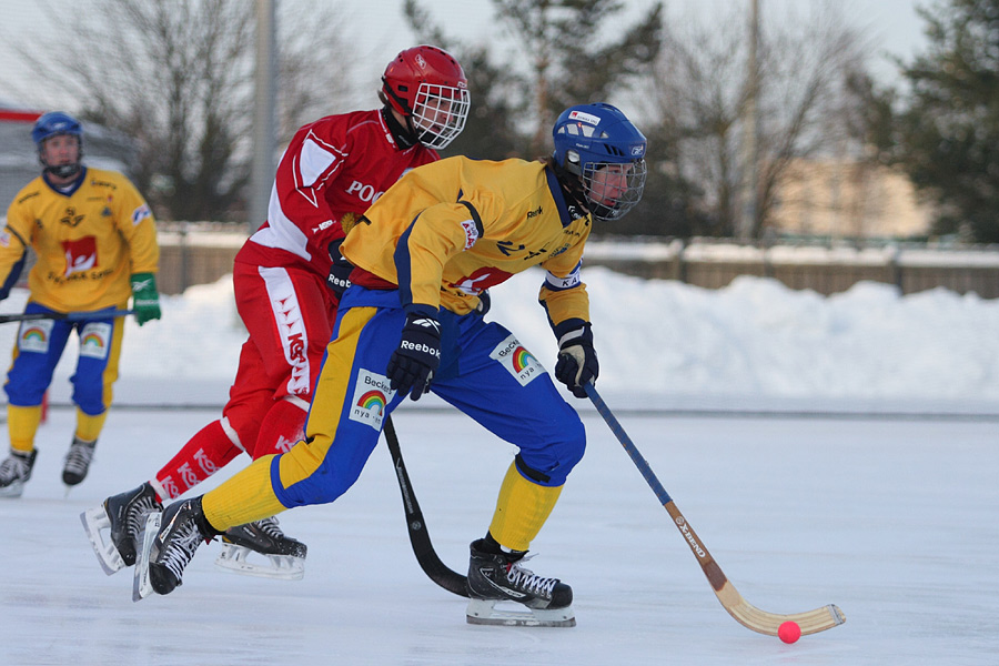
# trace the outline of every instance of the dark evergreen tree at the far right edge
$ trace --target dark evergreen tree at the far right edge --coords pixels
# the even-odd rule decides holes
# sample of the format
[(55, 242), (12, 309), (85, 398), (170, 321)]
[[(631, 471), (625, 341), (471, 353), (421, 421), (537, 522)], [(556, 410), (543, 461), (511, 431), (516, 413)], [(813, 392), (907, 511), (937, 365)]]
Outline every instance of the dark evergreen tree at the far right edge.
[[(888, 157), (939, 206), (936, 233), (999, 242), (999, 0), (920, 9), (927, 51), (904, 69), (911, 94)], [(884, 117), (884, 113), (882, 113)]]

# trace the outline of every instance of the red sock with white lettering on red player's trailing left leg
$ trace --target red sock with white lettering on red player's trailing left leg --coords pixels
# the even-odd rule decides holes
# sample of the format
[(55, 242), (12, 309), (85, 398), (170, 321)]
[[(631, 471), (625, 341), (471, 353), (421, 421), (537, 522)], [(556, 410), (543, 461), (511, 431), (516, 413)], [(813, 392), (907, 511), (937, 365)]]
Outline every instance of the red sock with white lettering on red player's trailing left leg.
[(241, 450), (225, 434), (222, 422), (213, 421), (198, 431), (173, 460), (163, 465), (152, 485), (160, 501), (173, 500), (228, 465), (240, 453)]

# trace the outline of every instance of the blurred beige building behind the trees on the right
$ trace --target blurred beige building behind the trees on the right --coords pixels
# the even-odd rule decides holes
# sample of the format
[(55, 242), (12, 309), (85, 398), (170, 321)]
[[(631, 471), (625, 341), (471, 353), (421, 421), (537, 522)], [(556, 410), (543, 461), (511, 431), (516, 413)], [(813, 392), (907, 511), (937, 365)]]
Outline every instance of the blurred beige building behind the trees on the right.
[(781, 235), (924, 238), (934, 218), (905, 173), (858, 162), (797, 160), (776, 194), (770, 221)]

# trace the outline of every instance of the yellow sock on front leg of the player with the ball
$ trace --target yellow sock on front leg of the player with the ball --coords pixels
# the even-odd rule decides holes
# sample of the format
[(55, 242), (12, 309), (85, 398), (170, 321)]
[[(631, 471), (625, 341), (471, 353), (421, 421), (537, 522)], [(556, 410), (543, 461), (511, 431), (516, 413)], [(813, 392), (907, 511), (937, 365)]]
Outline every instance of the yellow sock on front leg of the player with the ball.
[(527, 481), (515, 463), (506, 471), (490, 534), (512, 551), (526, 551), (555, 508), (562, 487), (548, 487)]

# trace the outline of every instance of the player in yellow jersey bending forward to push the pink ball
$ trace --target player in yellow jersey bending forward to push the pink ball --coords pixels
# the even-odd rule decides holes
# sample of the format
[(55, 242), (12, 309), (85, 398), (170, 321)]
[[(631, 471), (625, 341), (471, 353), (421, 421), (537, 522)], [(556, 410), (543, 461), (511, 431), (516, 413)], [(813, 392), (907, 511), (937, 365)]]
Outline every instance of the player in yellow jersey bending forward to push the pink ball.
[(493, 606), (514, 601), (526, 612), (513, 623), (575, 624), (572, 588), (522, 563), (583, 457), (583, 424), (537, 359), (476, 305), (512, 274), (545, 269), (539, 299), (559, 343), (555, 379), (585, 397), (599, 366), (583, 248), (593, 220), (617, 220), (640, 199), (646, 141), (604, 103), (567, 109), (553, 133), (546, 161), (448, 158), (414, 169), (367, 209), (342, 245), (354, 270), (305, 440), (167, 507), (141, 553), (152, 591), (180, 584), (203, 538), (336, 500), (357, 480), (386, 415), (406, 395), (432, 391), (519, 448), (487, 533), (471, 545), (468, 620), (509, 624)]

